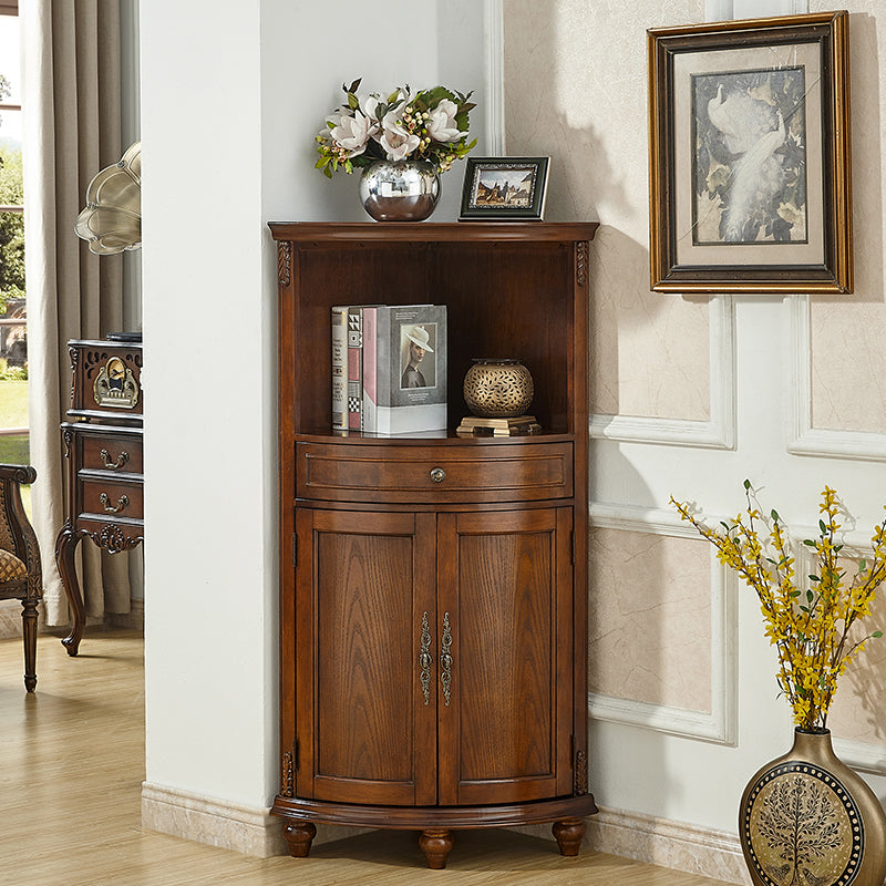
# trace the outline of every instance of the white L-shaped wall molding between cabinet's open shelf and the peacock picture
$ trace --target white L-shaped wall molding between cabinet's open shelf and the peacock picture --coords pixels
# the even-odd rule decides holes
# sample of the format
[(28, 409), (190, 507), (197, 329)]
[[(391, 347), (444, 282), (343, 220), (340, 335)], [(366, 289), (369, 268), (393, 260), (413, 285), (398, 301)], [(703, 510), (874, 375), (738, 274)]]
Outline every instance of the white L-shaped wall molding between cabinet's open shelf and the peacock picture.
[(709, 300), (710, 421), (591, 415), (590, 435), (606, 440), (731, 450), (735, 446), (735, 312), (730, 296)]

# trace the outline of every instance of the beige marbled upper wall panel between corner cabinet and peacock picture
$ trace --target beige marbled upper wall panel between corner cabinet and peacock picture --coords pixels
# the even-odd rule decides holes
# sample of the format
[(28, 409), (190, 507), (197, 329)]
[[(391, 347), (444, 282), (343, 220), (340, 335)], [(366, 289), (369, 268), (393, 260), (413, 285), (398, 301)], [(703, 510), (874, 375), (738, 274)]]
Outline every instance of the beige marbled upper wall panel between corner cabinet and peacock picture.
[(649, 290), (646, 29), (699, 0), (504, 0), (509, 155), (550, 155), (546, 218), (599, 220), (591, 412), (710, 419), (704, 299)]

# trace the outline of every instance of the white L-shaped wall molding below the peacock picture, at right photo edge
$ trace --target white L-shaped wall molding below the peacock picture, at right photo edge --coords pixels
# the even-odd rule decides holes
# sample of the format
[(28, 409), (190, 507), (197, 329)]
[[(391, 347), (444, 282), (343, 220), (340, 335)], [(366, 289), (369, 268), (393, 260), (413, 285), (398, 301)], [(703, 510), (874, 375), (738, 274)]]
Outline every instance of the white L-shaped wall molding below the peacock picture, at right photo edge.
[(808, 296), (790, 299), (792, 379), (789, 402), (787, 452), (793, 455), (886, 462), (886, 434), (830, 431), (812, 424), (812, 324)]

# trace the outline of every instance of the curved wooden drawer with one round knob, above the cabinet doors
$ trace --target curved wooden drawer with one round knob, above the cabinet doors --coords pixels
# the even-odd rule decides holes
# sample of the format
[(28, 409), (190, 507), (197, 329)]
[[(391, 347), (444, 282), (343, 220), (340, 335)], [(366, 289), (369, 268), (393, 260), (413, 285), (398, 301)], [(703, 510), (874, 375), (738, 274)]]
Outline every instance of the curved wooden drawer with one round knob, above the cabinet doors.
[(537, 502), (573, 495), (571, 443), (299, 443), (296, 495), (336, 502)]

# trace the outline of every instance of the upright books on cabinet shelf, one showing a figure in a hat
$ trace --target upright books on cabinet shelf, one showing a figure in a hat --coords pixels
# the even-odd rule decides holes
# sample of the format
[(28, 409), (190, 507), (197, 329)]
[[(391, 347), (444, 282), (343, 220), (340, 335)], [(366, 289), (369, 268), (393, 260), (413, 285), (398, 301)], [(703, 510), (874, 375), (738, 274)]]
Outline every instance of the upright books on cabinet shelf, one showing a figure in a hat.
[(332, 427), (445, 431), (445, 305), (332, 308)]

